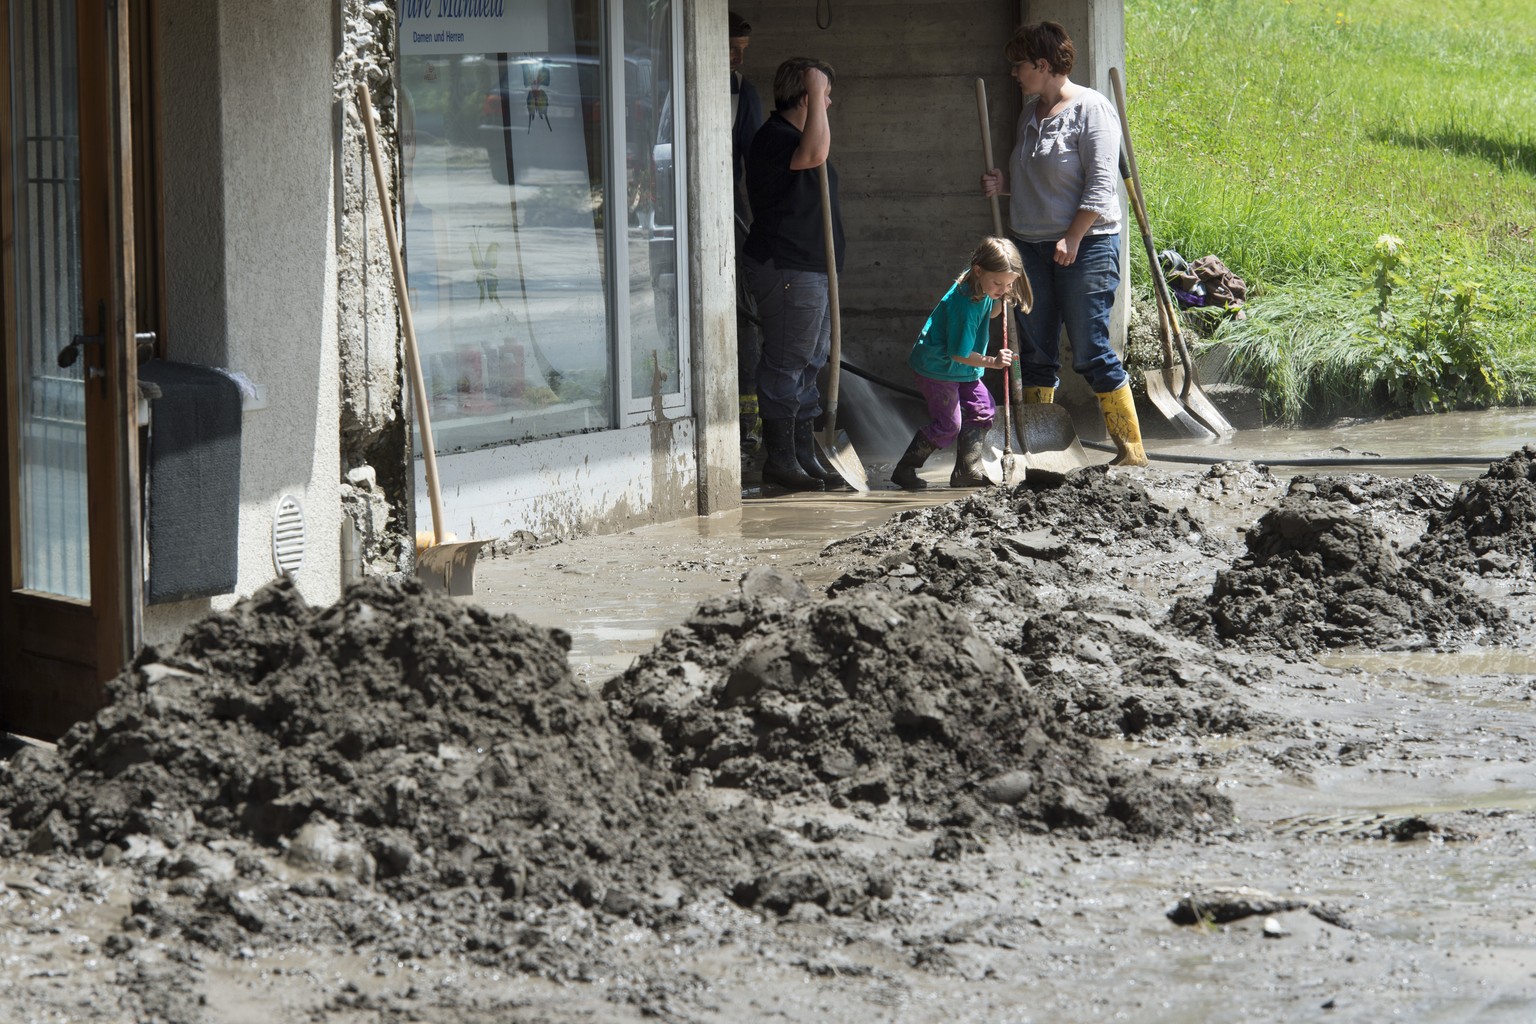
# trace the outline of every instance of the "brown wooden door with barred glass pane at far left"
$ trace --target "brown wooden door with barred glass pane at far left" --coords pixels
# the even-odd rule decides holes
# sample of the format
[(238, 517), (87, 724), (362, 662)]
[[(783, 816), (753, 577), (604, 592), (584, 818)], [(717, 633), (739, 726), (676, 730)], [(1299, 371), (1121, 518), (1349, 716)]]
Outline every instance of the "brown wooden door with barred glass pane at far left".
[(129, 6), (0, 0), (0, 728), (45, 738), (138, 637)]

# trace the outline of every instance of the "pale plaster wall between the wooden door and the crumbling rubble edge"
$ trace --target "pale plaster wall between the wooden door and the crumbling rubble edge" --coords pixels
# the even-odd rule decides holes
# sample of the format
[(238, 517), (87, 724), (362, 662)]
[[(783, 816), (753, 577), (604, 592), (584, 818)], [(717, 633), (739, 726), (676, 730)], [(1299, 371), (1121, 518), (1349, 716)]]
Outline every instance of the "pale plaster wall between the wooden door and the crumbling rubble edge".
[[(304, 507), (296, 574), (341, 591), (339, 388), (329, 3), (161, 0), (167, 356), (266, 388), (244, 416), (238, 594), (276, 576), (272, 520)], [(164, 642), (235, 597), (146, 609)]]

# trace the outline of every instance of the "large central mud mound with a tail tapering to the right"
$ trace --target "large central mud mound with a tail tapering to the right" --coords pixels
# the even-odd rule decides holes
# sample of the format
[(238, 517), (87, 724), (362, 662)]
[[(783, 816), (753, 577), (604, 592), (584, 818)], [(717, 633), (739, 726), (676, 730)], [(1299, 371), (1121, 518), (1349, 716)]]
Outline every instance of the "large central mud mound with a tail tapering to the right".
[(895, 801), (914, 827), (1160, 835), (1232, 818), (1213, 789), (1111, 766), (929, 594), (819, 599), (760, 567), (604, 695), (659, 731), (676, 772), (773, 798)]

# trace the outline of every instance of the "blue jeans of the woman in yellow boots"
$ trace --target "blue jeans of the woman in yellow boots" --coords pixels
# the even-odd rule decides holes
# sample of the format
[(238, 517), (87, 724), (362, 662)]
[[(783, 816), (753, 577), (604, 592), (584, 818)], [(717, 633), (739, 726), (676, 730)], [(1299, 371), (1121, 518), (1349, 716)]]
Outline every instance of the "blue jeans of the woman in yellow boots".
[(1057, 266), (1054, 241), (1018, 241), (1025, 275), (1035, 293), (1029, 313), (1015, 310), (1025, 344), (1015, 345), (1014, 370), (1025, 387), (1057, 387), (1061, 372), (1061, 327), (1072, 344), (1072, 368), (1094, 391), (1118, 391), (1126, 368), (1109, 344), (1109, 310), (1120, 289), (1120, 235), (1089, 235), (1069, 267)]

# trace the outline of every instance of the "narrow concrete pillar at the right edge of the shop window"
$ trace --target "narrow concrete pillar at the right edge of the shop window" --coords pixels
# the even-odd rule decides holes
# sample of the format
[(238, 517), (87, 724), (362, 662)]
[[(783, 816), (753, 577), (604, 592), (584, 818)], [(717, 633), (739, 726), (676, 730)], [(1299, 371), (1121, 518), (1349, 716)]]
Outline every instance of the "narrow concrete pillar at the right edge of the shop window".
[(736, 399), (736, 236), (727, 2), (679, 3), (688, 152), (688, 333), (699, 421), (699, 514), (742, 504)]

